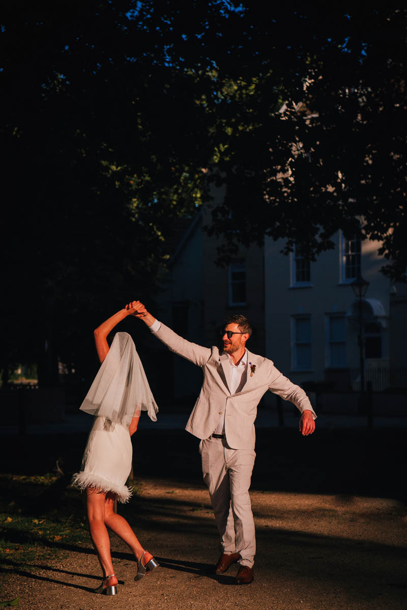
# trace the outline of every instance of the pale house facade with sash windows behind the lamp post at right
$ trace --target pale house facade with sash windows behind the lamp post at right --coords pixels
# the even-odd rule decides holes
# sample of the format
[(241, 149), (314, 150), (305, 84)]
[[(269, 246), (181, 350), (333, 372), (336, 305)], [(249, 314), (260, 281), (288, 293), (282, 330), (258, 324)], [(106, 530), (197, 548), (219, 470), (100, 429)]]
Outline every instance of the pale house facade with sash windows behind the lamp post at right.
[[(392, 364), (389, 323), (397, 289), (380, 273), (380, 243), (347, 240), (341, 232), (334, 242), (335, 249), (309, 262), (295, 251), (283, 256), (283, 241), (265, 238), (267, 356), (298, 384), (312, 381), (355, 390), (361, 381), (362, 328), (366, 381), (381, 390)], [(360, 276), (369, 282), (361, 300), (351, 287)]]

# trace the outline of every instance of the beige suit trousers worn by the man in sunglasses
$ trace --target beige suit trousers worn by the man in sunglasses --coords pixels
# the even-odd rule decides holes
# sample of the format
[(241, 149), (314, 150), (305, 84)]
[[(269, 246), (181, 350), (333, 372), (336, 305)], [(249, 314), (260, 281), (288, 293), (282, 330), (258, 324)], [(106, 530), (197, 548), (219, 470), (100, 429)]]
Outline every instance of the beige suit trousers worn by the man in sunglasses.
[(201, 441), (200, 453), (223, 553), (239, 553), (239, 563), (253, 567), (256, 537), (249, 487), (256, 453), (212, 438)]

